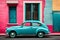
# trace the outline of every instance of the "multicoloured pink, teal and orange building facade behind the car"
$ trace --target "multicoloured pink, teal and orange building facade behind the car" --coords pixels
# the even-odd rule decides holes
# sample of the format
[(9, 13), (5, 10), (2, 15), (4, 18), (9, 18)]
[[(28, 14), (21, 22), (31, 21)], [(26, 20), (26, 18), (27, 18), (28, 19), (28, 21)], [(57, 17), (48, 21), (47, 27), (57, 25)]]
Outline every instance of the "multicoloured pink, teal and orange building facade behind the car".
[(0, 33), (30, 21), (45, 23), (51, 33), (60, 32), (59, 5), (59, 0), (0, 0)]

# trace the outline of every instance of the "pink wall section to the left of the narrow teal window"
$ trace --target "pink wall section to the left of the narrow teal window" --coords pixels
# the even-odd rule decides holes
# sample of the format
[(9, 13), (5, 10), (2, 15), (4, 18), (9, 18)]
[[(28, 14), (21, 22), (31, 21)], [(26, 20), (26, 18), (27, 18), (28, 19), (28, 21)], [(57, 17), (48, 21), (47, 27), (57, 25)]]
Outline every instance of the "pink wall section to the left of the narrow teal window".
[(8, 7), (5, 0), (0, 0), (0, 33), (5, 32), (5, 26), (8, 22)]

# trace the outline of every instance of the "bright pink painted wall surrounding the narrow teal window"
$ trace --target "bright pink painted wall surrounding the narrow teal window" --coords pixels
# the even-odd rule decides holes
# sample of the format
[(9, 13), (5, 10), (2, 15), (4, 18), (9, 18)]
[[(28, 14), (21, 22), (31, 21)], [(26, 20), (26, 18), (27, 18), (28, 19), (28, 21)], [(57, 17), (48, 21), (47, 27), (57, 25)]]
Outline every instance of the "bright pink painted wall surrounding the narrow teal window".
[[(28, 1), (28, 0), (27, 0)], [(35, 0), (37, 1), (37, 0)], [(42, 1), (42, 0), (41, 0)], [(23, 0), (18, 0), (17, 4), (17, 23), (10, 24), (9, 22), (9, 5), (6, 3), (6, 0), (0, 0), (0, 33), (5, 33), (6, 27), (21, 25), (23, 22)], [(43, 0), (42, 9), (44, 9), (45, 1)], [(42, 10), (44, 11), (44, 10)], [(42, 12), (43, 14), (44, 12)], [(43, 20), (44, 21), (44, 15)]]

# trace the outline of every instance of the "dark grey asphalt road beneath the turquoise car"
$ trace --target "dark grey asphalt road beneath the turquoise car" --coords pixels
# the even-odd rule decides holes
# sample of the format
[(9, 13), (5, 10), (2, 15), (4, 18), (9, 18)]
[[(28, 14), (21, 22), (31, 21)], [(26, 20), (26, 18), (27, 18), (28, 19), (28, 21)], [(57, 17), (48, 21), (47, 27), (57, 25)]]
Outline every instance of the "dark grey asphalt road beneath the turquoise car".
[(0, 36), (0, 40), (60, 40), (60, 36), (50, 36), (45, 38), (37, 38), (34, 36), (19, 36), (16, 38), (9, 38), (6, 36)]

